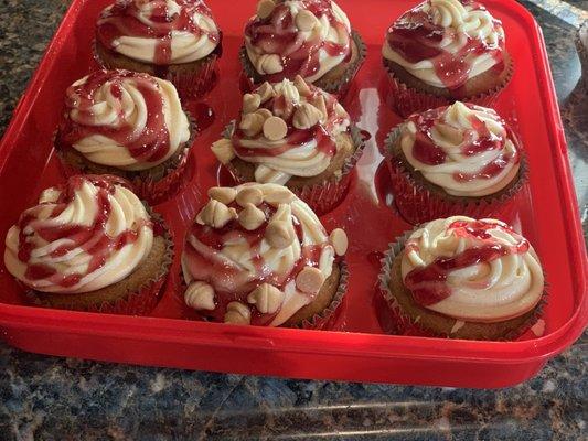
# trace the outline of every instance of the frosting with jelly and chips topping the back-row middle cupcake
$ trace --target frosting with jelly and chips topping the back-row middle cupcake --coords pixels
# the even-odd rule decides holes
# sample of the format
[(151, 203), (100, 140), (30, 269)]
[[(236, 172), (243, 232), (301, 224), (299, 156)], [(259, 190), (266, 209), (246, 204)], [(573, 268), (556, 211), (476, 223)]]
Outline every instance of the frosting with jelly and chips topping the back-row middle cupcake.
[(301, 75), (312, 83), (351, 57), (351, 25), (331, 0), (260, 0), (245, 49), (268, 82)]

